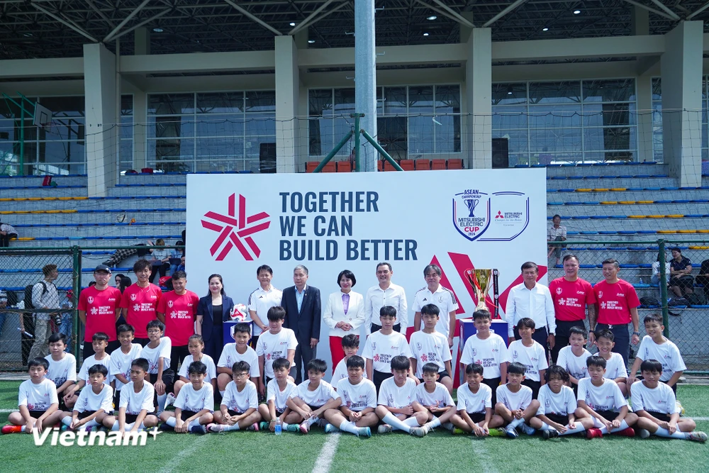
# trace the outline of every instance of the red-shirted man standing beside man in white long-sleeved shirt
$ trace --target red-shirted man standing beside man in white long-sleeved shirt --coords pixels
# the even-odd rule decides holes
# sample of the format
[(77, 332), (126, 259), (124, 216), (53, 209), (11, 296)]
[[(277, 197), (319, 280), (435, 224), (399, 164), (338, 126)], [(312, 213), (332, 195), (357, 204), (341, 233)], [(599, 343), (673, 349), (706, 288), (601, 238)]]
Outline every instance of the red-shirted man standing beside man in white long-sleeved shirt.
[(549, 292), (554, 301), (554, 318), (557, 319), (556, 340), (552, 348), (552, 362), (557, 362), (559, 350), (569, 345), (569, 329), (580, 327), (586, 329), (586, 307), (588, 321), (591, 314), (596, 314), (596, 294), (588, 281), (579, 277), (579, 258), (576, 255), (566, 255), (564, 260), (564, 277), (554, 279), (549, 283)]

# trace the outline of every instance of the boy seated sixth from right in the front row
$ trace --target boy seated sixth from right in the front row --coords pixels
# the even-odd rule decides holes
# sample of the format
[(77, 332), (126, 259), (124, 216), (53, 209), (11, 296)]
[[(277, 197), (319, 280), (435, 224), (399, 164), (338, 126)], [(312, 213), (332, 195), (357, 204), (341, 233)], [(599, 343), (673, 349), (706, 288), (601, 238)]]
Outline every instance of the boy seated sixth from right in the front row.
[[(426, 409), (427, 421), (419, 429), (423, 430), (423, 435), (426, 435), (430, 430), (443, 425), (445, 428), (453, 431), (453, 424), (450, 419), (455, 413), (455, 403), (450, 396), (450, 392), (446, 386), (443, 386), (438, 379), (438, 365), (435, 363), (426, 363), (423, 365), (423, 383), (416, 386), (416, 400), (413, 404), (414, 408), (423, 407)], [(414, 433), (417, 437), (421, 437), (420, 433)]]

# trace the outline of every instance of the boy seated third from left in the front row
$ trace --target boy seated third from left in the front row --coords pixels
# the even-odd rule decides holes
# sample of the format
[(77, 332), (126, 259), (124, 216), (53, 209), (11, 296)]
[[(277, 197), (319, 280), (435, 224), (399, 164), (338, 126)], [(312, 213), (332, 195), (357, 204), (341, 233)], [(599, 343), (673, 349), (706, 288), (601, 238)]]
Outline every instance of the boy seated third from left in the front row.
[(104, 425), (109, 430), (125, 433), (138, 432), (139, 429), (155, 427), (159, 421), (155, 415), (155, 388), (145, 381), (149, 364), (145, 358), (136, 358), (130, 362), (130, 383), (121, 389), (121, 401), (118, 403), (118, 417), (106, 416)]

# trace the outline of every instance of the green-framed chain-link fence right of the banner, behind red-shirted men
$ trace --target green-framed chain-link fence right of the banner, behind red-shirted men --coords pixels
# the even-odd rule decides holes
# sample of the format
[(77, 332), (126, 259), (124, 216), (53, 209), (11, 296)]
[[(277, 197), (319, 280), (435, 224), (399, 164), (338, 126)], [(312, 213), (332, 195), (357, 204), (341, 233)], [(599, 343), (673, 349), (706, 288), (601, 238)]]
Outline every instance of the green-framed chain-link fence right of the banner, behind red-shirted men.
[[(705, 331), (709, 316), (709, 240), (586, 241), (549, 245), (562, 247), (562, 258), (576, 255), (579, 277), (591, 284), (603, 280), (603, 260), (617, 260), (618, 277), (635, 286), (642, 304), (638, 309), (640, 337), (645, 335), (644, 316), (662, 313), (665, 335), (679, 347), (688, 369), (709, 370), (709, 337)], [(549, 281), (563, 276), (561, 261), (559, 265), (549, 266)], [(637, 346), (632, 348), (637, 350)]]

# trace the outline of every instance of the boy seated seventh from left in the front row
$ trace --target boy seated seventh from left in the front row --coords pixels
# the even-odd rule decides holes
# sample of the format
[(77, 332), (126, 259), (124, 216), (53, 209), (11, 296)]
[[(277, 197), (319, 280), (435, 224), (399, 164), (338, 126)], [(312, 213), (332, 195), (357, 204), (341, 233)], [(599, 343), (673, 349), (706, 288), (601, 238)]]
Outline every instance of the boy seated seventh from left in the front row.
[[(263, 335), (259, 337), (259, 342), (262, 337)], [(296, 392), (288, 398), (288, 407), (293, 411), (291, 414), (298, 414), (297, 418), (289, 416), (286, 419), (286, 421), (290, 421), (289, 432), (297, 432), (300, 429), (302, 433), (308, 433), (311, 425), (323, 418), (325, 411), (331, 408), (336, 409), (342, 404), (342, 399), (333, 386), (323, 381), (328, 364), (316, 358), (308, 362), (307, 368), (308, 381), (298, 384)], [(301, 422), (301, 424), (298, 425), (296, 422)], [(322, 424), (325, 425), (325, 423), (327, 421), (323, 418)]]

